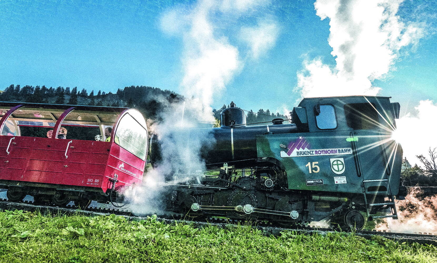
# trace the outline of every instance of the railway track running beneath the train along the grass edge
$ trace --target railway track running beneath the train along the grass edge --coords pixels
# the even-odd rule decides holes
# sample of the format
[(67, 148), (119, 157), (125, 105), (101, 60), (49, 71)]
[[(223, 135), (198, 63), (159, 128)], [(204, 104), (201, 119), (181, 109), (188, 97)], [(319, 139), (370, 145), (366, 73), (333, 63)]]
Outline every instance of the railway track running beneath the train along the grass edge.
[[(146, 219), (148, 215), (134, 215), (129, 209), (119, 208), (102, 208), (102, 207), (88, 207), (86, 210), (80, 210), (74, 205), (66, 206), (65, 208), (52, 207), (45, 205), (34, 205), (31, 201), (22, 201), (19, 203), (9, 202), (7, 199), (0, 198), (0, 210), (24, 210), (24, 211), (39, 211), (43, 215), (86, 215), (86, 216), (98, 216), (98, 215), (121, 215), (128, 220), (142, 220)], [(184, 220), (185, 215), (182, 214), (166, 214), (158, 215), (158, 220), (167, 224), (173, 224), (176, 221)], [(184, 220), (187, 223), (191, 223), (196, 227), (205, 227), (207, 225), (215, 225), (218, 227), (235, 227), (237, 223), (245, 223), (243, 220), (232, 220), (225, 218), (198, 218), (198, 221)], [(320, 233), (325, 234), (327, 232), (335, 232), (333, 228), (320, 228), (317, 226), (298, 226), (297, 228), (283, 228), (265, 221), (252, 222), (253, 227), (260, 229), (265, 235), (281, 235), (283, 231), (295, 231), (298, 233), (313, 234)], [(417, 242), (421, 244), (432, 244), (437, 246), (437, 233), (419, 232), (419, 233), (398, 233), (398, 232), (385, 232), (363, 229), (357, 231), (355, 235), (362, 236), (366, 239), (371, 239), (374, 235), (383, 236), (387, 239), (392, 239), (399, 242)]]

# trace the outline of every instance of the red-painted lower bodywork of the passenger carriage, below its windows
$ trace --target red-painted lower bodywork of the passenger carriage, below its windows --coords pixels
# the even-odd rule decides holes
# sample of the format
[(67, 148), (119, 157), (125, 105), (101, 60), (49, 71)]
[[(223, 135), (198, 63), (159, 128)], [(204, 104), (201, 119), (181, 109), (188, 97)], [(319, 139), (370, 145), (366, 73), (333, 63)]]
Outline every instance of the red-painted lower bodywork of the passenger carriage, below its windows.
[(0, 180), (100, 187), (105, 193), (115, 173), (116, 188), (140, 184), (145, 163), (114, 142), (0, 136)]

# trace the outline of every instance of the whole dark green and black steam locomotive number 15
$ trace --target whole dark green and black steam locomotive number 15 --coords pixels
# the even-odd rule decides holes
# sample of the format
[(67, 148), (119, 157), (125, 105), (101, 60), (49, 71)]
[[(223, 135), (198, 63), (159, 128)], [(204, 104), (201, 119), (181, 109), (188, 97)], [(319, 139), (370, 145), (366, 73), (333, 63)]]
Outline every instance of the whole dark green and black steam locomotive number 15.
[[(167, 210), (281, 225), (329, 219), (343, 229), (397, 219), (395, 199), (406, 195), (402, 148), (391, 138), (399, 103), (373, 96), (304, 98), (291, 112), (292, 123), (262, 125), (246, 124), (243, 110), (232, 106), (221, 112), (221, 127), (187, 131), (187, 140), (206, 132), (215, 142), (201, 147), (206, 173), (167, 178)], [(153, 166), (163, 162), (161, 146), (153, 136)]]

